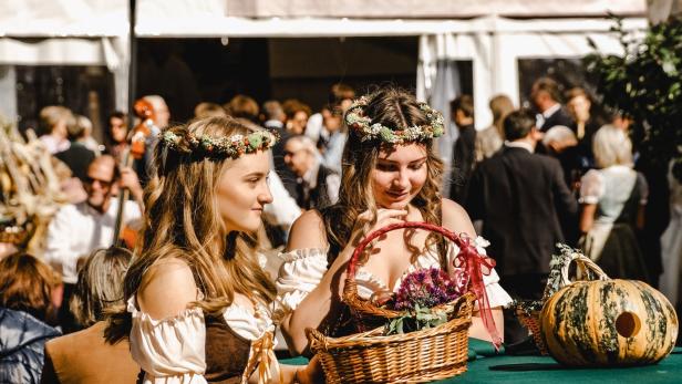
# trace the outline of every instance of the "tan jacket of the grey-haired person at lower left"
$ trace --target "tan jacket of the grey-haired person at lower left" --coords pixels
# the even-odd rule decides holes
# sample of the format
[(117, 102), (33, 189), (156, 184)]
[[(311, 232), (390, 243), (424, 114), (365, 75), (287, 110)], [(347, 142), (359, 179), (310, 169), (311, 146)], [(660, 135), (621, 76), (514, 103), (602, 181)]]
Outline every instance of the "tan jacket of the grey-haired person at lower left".
[(105, 322), (45, 344), (41, 383), (131, 383), (140, 366), (133, 361), (127, 340), (111, 345), (104, 340)]

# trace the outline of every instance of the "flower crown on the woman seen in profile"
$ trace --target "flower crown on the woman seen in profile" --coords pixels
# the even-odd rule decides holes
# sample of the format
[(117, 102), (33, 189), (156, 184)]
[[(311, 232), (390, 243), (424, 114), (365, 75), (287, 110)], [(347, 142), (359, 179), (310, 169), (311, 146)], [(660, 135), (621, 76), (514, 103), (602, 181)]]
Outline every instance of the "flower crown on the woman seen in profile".
[(208, 135), (187, 134), (185, 136), (189, 143), (189, 151), (182, 148), (178, 144), (182, 136), (170, 131), (161, 134), (161, 142), (169, 149), (178, 153), (200, 153), (205, 156), (228, 156), (237, 158), (244, 154), (251, 154), (258, 151), (271, 148), (279, 141), (279, 134), (273, 131), (255, 131), (248, 135), (231, 135), (224, 137), (213, 137)]

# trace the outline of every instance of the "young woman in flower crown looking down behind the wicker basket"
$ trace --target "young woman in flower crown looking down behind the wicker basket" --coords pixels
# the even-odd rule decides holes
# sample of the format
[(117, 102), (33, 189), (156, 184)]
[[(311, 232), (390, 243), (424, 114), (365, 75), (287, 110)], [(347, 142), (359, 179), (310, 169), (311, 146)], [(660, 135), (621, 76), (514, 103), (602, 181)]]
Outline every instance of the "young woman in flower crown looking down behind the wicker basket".
[[(354, 332), (341, 295), (354, 246), (369, 232), (403, 220), (426, 221), (466, 233), (480, 253), (487, 245), (476, 238), (466, 211), (441, 197), (443, 163), (432, 147), (433, 138), (443, 134), (437, 111), (404, 91), (384, 89), (355, 101), (344, 121), (349, 138), (339, 201), (303, 214), (291, 229), (287, 253), (281, 255), (277, 288), (288, 312), (282, 332), (294, 353), (308, 346), (306, 328), (335, 336)], [(395, 291), (407, 272), (421, 268), (440, 267), (454, 273), (458, 248), (440, 235), (403, 229), (380, 238), (371, 253), (355, 273), (364, 299)], [(499, 287), (494, 269), (483, 280), (502, 335), (500, 307), (512, 299)], [(488, 331), (475, 313), (469, 335), (490, 340)]]

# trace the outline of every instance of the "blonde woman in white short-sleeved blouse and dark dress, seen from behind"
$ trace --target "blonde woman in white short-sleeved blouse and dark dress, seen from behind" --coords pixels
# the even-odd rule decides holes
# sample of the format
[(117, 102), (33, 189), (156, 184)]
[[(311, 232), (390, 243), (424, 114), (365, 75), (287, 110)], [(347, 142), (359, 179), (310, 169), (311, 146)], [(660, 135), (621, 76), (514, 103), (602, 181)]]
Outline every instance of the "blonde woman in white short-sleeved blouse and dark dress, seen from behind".
[(644, 227), (649, 187), (632, 169), (632, 143), (622, 129), (604, 125), (592, 151), (599, 169), (580, 181), (582, 248), (609, 277), (648, 281), (634, 232)]

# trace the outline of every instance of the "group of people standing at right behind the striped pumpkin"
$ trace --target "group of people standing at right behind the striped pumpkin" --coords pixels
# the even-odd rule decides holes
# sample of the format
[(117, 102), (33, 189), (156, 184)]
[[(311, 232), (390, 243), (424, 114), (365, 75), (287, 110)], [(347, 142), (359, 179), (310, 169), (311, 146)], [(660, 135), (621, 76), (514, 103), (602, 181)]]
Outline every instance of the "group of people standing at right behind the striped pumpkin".
[[(541, 299), (557, 242), (582, 249), (611, 278), (657, 287), (669, 206), (668, 199), (649, 204), (648, 180), (666, 185), (657, 183), (657, 173), (637, 170), (628, 118), (599, 118), (580, 87), (566, 92), (566, 106), (561, 100), (554, 80), (539, 79), (530, 92), (537, 113), (515, 111), (508, 97), (495, 96), (494, 124), (480, 132), (472, 97), (454, 100), (459, 138), (450, 197), (490, 241), (514, 298)], [(505, 325), (507, 342), (527, 334), (512, 310)]]

